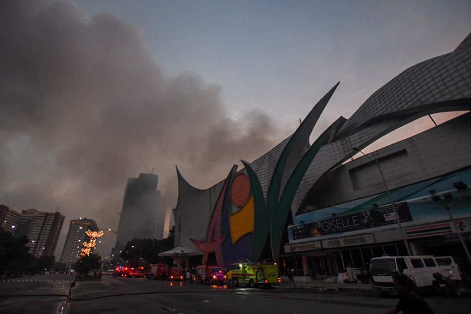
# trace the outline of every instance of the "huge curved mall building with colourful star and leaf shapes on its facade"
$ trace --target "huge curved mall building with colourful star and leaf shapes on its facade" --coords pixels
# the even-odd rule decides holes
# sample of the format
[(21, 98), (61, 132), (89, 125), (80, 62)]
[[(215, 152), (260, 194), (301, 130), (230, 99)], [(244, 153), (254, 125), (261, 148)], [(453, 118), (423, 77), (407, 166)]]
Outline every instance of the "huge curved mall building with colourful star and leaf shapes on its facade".
[[(453, 255), (470, 267), (471, 34), (453, 52), (394, 77), (309, 144), (337, 86), (290, 137), (242, 161), (242, 170), (228, 169), (211, 188), (193, 187), (177, 169), (176, 248), (160, 255), (227, 268), (275, 260), (282, 274), (288, 267), (323, 275), (367, 269), (383, 254)], [(430, 115), (443, 112), (462, 114), (362, 154), (392, 131), (424, 117), (434, 123)]]

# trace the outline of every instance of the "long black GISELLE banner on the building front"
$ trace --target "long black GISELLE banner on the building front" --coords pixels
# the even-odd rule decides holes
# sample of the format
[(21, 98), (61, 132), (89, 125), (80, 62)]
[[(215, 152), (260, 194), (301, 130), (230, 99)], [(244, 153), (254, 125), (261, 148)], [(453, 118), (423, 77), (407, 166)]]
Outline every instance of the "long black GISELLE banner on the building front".
[[(406, 202), (398, 203), (396, 210), (401, 222), (411, 221), (411, 213)], [(293, 240), (343, 233), (353, 230), (375, 228), (397, 222), (391, 205), (373, 207), (354, 214), (334, 216), (329, 219), (313, 221), (292, 227)]]

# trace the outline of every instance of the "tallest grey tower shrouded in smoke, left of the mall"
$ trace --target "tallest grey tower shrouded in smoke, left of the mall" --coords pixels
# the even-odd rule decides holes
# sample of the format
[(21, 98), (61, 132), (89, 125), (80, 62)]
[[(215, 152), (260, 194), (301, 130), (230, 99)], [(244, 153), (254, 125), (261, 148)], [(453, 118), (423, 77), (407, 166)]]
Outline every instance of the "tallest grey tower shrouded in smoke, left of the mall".
[(162, 239), (165, 224), (165, 205), (157, 190), (159, 177), (154, 174), (139, 174), (139, 178), (129, 178), (124, 191), (124, 198), (119, 218), (117, 240), (113, 254), (125, 243), (134, 238)]

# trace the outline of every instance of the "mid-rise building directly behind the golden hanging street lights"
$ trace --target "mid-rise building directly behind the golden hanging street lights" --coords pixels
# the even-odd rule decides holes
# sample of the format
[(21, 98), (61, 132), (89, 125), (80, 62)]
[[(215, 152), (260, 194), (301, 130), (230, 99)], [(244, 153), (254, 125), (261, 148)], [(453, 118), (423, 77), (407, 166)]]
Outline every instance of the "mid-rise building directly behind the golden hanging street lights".
[[(73, 264), (80, 257), (81, 250), (85, 248), (83, 243), (90, 242), (90, 237), (86, 234), (87, 230), (98, 231), (97, 223), (87, 218), (79, 218), (70, 221), (64, 249), (60, 256), (60, 262), (66, 265), (67, 270), (72, 269)], [(93, 248), (91, 249), (93, 251)]]

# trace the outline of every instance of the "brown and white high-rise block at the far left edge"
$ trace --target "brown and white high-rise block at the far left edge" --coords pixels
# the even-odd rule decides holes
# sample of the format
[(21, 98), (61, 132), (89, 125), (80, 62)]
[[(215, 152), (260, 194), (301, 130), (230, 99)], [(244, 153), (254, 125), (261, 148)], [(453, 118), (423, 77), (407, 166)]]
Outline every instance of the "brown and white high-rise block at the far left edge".
[(21, 213), (0, 205), (0, 228), (14, 236), (28, 238), (27, 246), (35, 257), (54, 256), (65, 217), (59, 212), (37, 209), (22, 210)]

